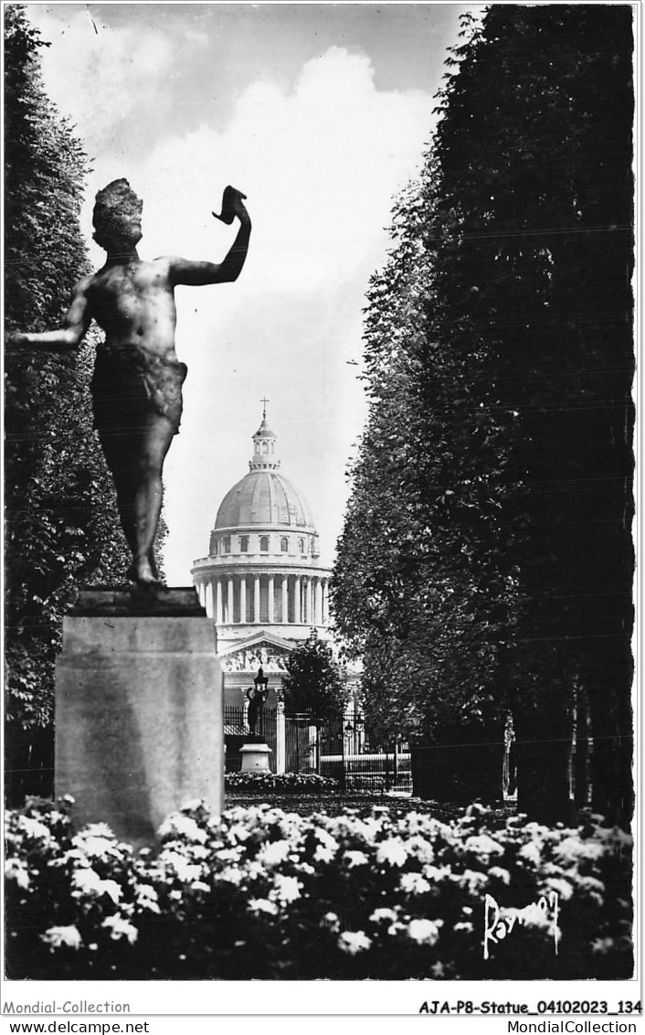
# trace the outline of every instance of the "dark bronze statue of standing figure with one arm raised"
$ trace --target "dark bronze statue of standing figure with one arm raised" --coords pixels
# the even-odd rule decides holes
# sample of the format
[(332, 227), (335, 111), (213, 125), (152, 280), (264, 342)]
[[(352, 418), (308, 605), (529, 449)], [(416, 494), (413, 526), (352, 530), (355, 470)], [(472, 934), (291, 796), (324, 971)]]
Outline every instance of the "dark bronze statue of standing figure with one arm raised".
[(182, 413), (186, 365), (175, 353), (175, 288), (238, 278), (251, 232), (245, 197), (231, 186), (224, 190), (221, 214), (215, 217), (231, 225), (237, 216), (240, 227), (219, 265), (176, 256), (145, 262), (136, 253), (143, 203), (127, 180), (114, 180), (99, 190), (94, 206), (94, 240), (108, 253), (105, 265), (76, 285), (60, 330), (9, 335), (14, 346), (73, 349), (92, 319), (104, 330), (92, 380), (94, 420), (132, 551), (128, 574), (140, 586), (159, 585), (153, 541), (161, 472)]

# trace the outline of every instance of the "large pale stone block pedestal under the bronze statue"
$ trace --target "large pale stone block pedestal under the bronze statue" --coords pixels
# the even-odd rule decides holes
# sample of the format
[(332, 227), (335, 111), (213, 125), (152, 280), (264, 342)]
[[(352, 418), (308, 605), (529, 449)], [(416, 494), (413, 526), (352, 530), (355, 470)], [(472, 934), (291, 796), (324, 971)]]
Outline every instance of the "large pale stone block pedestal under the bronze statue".
[(56, 795), (79, 826), (150, 842), (165, 817), (223, 804), (215, 630), (192, 587), (84, 590), (56, 666)]

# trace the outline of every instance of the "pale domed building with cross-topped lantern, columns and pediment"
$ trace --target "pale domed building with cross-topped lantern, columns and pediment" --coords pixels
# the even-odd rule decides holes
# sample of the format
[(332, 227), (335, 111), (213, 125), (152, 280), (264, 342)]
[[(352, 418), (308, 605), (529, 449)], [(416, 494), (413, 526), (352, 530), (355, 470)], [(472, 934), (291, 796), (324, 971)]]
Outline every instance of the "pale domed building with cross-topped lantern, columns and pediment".
[(208, 557), (191, 569), (217, 631), (224, 706), (236, 707), (259, 668), (275, 691), (285, 657), (312, 628), (325, 637), (329, 618), (331, 572), (308, 504), (279, 471), (266, 408), (252, 441), (248, 474), (221, 501)]

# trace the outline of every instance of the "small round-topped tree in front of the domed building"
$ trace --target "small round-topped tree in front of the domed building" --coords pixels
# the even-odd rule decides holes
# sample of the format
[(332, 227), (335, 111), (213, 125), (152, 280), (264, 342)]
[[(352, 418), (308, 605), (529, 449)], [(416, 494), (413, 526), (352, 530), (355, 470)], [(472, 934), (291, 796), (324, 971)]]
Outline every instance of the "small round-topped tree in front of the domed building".
[(315, 629), (286, 658), (282, 677), (288, 715), (308, 713), (314, 721), (342, 716), (348, 691), (331, 647)]

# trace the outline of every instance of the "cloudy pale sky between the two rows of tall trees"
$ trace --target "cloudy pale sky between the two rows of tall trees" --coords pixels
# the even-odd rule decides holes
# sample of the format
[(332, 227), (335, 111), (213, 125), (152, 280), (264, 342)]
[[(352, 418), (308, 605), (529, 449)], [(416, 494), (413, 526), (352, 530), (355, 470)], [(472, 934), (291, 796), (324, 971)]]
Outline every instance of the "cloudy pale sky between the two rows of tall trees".
[[(393, 198), (433, 129), (433, 97), (465, 6), (455, 3), (35, 3), (44, 84), (93, 159), (95, 191), (144, 198), (140, 255), (223, 259), (211, 216), (227, 183), (253, 220), (233, 285), (180, 288), (184, 417), (165, 466), (170, 585), (248, 470), (263, 396), (282, 473), (331, 563), (345, 469), (365, 419), (362, 307)], [(92, 260), (103, 253), (91, 245)]]

